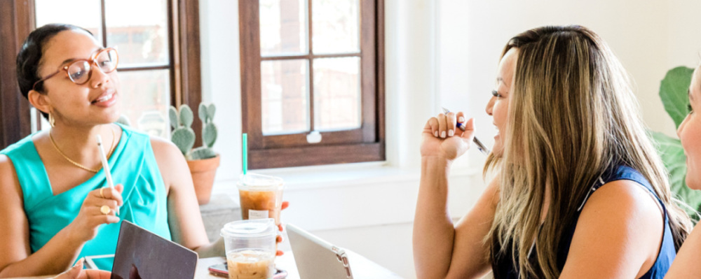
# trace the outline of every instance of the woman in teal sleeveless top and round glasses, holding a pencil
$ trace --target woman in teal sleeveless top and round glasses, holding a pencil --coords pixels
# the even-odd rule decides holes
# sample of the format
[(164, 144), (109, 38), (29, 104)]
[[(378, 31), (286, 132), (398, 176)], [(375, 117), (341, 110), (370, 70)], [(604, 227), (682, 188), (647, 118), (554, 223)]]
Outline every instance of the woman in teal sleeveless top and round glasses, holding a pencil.
[(175, 145), (114, 124), (121, 115), (117, 64), (116, 50), (72, 25), (40, 27), (22, 45), (20, 91), (51, 129), (0, 152), (0, 277), (57, 274), (76, 259), (114, 254), (121, 220), (200, 257), (224, 255), (220, 241), (207, 240)]

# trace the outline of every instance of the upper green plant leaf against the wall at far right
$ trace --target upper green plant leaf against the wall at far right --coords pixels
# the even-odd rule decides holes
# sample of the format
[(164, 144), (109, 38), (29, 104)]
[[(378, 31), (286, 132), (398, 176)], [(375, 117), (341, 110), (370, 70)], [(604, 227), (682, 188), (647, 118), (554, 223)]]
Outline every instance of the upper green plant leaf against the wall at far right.
[(679, 66), (669, 70), (660, 83), (660, 99), (677, 128), (689, 113), (688, 90), (693, 72), (694, 69)]

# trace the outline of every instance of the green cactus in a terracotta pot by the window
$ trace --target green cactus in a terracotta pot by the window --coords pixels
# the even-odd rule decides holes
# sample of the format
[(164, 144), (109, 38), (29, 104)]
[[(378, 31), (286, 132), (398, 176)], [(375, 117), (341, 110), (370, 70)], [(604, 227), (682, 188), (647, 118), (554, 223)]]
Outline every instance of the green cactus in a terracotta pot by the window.
[(215, 173), (219, 167), (219, 155), (212, 150), (212, 145), (217, 141), (217, 126), (212, 122), (216, 109), (213, 103), (209, 106), (200, 103), (198, 115), (202, 120), (202, 146), (192, 149), (195, 131), (190, 127), (194, 118), (191, 108), (186, 104), (179, 109), (170, 106), (170, 126), (173, 128), (170, 140), (187, 160), (200, 205), (210, 202)]

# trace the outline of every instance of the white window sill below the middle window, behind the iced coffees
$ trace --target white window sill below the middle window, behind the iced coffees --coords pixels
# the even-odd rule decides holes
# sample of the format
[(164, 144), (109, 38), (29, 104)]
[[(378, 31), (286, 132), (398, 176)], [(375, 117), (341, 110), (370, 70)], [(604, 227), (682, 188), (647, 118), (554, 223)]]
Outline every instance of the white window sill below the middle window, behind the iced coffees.
[[(384, 162), (254, 171), (285, 180), (283, 222), (310, 231), (413, 222), (420, 169)], [(449, 210), (462, 216), (484, 189), (481, 169), (451, 171)], [(226, 194), (238, 208), (238, 180), (217, 181), (212, 195)]]

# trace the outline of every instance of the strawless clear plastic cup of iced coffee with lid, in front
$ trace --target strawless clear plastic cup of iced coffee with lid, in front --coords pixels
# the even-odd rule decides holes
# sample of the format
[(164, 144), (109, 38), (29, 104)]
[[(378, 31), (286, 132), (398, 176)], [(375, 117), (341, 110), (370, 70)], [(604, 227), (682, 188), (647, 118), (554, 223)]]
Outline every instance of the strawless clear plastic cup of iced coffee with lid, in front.
[(272, 218), (229, 222), (222, 228), (229, 279), (267, 279), (275, 274), (275, 236)]

